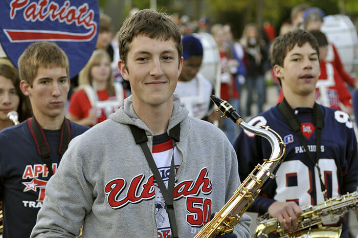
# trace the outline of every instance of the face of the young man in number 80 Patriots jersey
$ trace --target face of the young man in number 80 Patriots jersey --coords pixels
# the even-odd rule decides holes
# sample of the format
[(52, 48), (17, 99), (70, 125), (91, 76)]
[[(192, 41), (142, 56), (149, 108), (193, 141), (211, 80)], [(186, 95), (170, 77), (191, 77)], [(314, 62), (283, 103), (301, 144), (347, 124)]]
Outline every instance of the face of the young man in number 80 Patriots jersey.
[(318, 54), (308, 42), (302, 47), (296, 45), (287, 52), (283, 67), (276, 64), (273, 70), (276, 77), (281, 78), (282, 91), (286, 98), (291, 95), (314, 94), (321, 73)]

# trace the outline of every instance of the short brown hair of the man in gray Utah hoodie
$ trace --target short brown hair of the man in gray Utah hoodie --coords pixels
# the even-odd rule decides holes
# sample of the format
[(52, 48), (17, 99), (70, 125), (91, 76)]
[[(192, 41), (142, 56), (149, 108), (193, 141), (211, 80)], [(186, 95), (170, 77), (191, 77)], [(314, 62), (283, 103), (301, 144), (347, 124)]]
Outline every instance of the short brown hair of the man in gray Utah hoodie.
[(161, 40), (174, 39), (179, 60), (183, 54), (182, 35), (170, 16), (151, 9), (144, 9), (124, 21), (119, 31), (119, 55), (124, 64), (127, 62), (129, 44), (133, 37), (143, 34), (149, 38)]

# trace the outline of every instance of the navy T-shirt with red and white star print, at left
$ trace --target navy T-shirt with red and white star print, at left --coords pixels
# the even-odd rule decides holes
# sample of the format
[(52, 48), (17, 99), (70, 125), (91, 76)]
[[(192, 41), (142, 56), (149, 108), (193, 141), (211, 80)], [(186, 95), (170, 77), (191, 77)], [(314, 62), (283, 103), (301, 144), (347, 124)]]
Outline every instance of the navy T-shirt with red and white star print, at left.
[[(70, 121), (71, 139), (88, 127)], [(61, 130), (44, 129), (51, 151), (54, 173), (59, 163)], [(3, 237), (30, 237), (37, 212), (42, 206), (50, 179), (46, 164), (38, 154), (27, 121), (0, 132), (0, 198), (3, 201)]]

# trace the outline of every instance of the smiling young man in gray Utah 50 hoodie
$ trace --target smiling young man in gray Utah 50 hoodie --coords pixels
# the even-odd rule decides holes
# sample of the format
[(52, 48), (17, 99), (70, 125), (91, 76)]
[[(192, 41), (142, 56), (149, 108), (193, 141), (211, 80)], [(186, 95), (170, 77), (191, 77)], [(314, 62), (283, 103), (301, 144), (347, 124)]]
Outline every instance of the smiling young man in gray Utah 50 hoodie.
[[(188, 117), (173, 95), (183, 65), (175, 23), (142, 10), (123, 24), (119, 47), (118, 66), (132, 95), (71, 142), (32, 238), (74, 237), (82, 226), (84, 238), (194, 237), (240, 184), (225, 134)], [(249, 225), (244, 214), (221, 237), (249, 238)]]

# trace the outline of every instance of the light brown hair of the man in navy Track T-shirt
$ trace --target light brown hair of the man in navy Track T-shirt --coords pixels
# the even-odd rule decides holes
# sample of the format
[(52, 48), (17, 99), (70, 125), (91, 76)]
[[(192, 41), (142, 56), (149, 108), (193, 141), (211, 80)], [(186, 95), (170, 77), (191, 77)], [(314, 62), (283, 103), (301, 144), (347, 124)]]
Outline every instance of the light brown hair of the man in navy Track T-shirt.
[(32, 86), (39, 67), (65, 68), (67, 75), (70, 75), (67, 55), (53, 42), (39, 41), (31, 44), (20, 55), (17, 64), (20, 79), (27, 81), (30, 86)]

